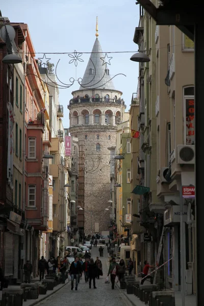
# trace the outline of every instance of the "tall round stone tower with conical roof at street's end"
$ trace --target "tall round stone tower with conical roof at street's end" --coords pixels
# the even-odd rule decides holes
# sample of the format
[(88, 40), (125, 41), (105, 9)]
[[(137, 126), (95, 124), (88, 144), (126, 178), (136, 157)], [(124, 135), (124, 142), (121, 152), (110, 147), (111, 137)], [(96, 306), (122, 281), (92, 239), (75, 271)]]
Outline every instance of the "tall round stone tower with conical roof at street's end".
[[(79, 90), (69, 101), (69, 133), (71, 138), (85, 142), (84, 232), (86, 235), (108, 231), (112, 209), (110, 150), (116, 145), (116, 125), (125, 110), (122, 92), (116, 90), (109, 71), (110, 59), (96, 40)], [(114, 203), (112, 204), (114, 206)], [(113, 208), (114, 211), (114, 208)]]

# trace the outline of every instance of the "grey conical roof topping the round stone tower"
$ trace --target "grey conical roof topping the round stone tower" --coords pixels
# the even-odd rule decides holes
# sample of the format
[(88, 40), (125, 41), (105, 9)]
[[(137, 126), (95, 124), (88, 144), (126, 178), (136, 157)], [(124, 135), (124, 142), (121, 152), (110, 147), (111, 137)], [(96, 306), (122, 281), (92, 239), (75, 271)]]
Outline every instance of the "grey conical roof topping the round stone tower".
[[(104, 60), (101, 58), (104, 58)], [(81, 82), (80, 90), (97, 88), (115, 90), (111, 77), (106, 71), (109, 66), (105, 64), (106, 62), (109, 62), (109, 59), (107, 55), (105, 57), (103, 54), (98, 38), (96, 38), (83, 80)]]

